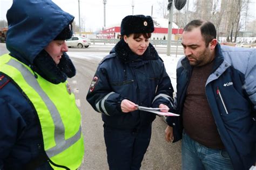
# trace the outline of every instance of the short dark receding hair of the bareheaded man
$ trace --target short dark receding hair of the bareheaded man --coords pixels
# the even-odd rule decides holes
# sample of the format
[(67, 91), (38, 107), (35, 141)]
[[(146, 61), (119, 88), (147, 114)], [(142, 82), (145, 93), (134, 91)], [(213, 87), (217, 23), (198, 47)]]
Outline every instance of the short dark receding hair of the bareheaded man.
[(200, 27), (201, 35), (205, 40), (205, 46), (216, 38), (215, 26), (206, 20), (196, 19), (192, 20), (184, 27), (184, 31), (192, 31), (194, 28)]

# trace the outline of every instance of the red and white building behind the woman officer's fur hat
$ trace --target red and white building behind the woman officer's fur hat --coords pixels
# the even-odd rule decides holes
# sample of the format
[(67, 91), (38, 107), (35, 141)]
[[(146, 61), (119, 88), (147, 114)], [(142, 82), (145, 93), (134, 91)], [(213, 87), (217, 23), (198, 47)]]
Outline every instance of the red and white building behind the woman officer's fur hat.
[[(152, 33), (151, 39), (167, 40), (168, 34), (168, 19), (164, 18), (153, 18), (154, 32)], [(121, 25), (121, 24), (119, 24)], [(172, 23), (172, 40), (178, 40), (180, 35), (183, 33), (183, 29), (180, 29), (175, 23)], [(97, 34), (97, 38), (112, 39), (119, 38), (120, 26), (111, 26), (106, 30), (100, 31)]]

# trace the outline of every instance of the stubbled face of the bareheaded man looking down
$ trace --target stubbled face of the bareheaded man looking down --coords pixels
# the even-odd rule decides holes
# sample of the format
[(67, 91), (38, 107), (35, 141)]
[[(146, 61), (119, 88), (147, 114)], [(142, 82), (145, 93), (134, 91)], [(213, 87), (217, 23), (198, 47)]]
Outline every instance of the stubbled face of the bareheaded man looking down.
[(181, 44), (183, 45), (184, 53), (188, 61), (190, 61), (191, 66), (206, 65), (214, 58), (214, 48), (211, 47), (211, 42), (205, 46), (205, 40), (201, 36), (199, 27), (191, 31), (184, 31)]

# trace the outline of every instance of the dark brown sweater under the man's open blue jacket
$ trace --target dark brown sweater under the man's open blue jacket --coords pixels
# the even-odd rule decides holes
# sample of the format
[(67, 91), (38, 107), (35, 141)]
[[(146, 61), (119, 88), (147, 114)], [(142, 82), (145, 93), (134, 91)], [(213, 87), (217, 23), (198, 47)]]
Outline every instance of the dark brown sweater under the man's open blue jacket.
[(213, 62), (194, 67), (183, 108), (184, 130), (198, 143), (211, 148), (224, 148), (205, 94), (205, 84)]

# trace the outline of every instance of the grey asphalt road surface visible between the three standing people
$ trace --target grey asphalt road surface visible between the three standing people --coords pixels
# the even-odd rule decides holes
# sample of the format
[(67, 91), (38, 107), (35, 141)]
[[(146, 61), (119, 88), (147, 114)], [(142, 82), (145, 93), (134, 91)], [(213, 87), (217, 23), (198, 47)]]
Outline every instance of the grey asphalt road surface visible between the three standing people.
[[(89, 48), (83, 49), (83, 55), (86, 55), (85, 51)], [(97, 52), (99, 51), (100, 49)], [(8, 51), (5, 44), (0, 43), (0, 55), (6, 52)], [(84, 160), (79, 169), (109, 169), (101, 116), (86, 101), (87, 90), (100, 59), (79, 59), (73, 58), (72, 55), (70, 57), (76, 66), (77, 75), (69, 79), (69, 83), (82, 114), (82, 131), (85, 143)], [(164, 140), (165, 128), (166, 124), (163, 119), (157, 117), (153, 122), (150, 146), (144, 156), (141, 169), (181, 169), (181, 142), (167, 143)]]

